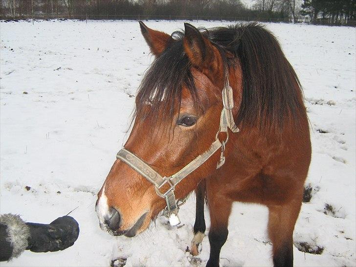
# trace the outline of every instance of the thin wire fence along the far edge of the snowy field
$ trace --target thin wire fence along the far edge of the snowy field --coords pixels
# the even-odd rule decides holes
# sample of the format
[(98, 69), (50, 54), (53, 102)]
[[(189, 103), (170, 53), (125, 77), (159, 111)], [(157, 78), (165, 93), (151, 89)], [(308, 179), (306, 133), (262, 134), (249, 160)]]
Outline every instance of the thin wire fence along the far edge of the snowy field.
[[(175, 15), (107, 15), (107, 14), (27, 14), (27, 15), (0, 15), (0, 20), (5, 21), (18, 21), (18, 20), (165, 20), (165, 21), (175, 21), (175, 20), (185, 20), (185, 21), (246, 21), (246, 22), (286, 22), (293, 23), (291, 18), (266, 18), (266, 17), (211, 17), (211, 16), (175, 16)], [(331, 21), (328, 19), (322, 20), (318, 19), (315, 21), (306, 21), (306, 20), (295, 20), (294, 23), (304, 22), (311, 24), (320, 24), (320, 25), (341, 25), (341, 26), (356, 26), (356, 21), (354, 20), (339, 20)]]

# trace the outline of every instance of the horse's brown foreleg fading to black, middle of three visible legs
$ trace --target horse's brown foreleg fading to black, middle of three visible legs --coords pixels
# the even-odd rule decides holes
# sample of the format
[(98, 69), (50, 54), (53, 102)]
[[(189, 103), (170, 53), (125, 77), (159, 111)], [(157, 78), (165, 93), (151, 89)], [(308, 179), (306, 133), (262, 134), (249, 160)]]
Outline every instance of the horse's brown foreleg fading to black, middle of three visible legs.
[(220, 250), (227, 240), (227, 224), (231, 213), (232, 200), (217, 193), (213, 181), (207, 181), (206, 196), (208, 199), (210, 213), (210, 257), (206, 263), (207, 267), (219, 266)]

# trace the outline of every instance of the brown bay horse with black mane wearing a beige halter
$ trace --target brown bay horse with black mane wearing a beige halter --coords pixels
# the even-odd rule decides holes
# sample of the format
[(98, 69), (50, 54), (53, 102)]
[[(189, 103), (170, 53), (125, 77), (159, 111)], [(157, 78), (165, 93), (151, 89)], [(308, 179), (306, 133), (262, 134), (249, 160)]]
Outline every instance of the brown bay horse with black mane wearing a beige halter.
[(156, 59), (138, 89), (125, 149), (98, 193), (100, 226), (132, 237), (165, 207), (173, 218), (176, 198), (196, 190), (196, 254), (206, 190), (207, 266), (219, 265), (234, 201), (268, 207), (274, 266), (292, 266), (292, 233), (311, 160), (298, 78), (260, 24), (184, 25), (184, 32), (168, 35), (140, 22)]

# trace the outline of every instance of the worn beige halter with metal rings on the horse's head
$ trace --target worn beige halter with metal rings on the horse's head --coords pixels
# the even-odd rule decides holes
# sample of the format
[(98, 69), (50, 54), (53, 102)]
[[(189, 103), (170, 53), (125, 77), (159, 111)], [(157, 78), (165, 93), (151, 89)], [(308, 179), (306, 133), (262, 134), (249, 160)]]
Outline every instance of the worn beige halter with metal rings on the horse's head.
[[(164, 208), (164, 215), (169, 218), (169, 222), (172, 226), (180, 223), (178, 218), (178, 210), (179, 206), (185, 202), (185, 200), (176, 200), (176, 196), (174, 194), (176, 185), (183, 178), (187, 177), (190, 173), (202, 165), (209, 157), (213, 156), (213, 154), (219, 148), (221, 148), (221, 156), (219, 162), (217, 163), (216, 169), (219, 169), (221, 166), (223, 166), (225, 162), (225, 145), (229, 139), (228, 128), (230, 128), (231, 132), (233, 133), (240, 131), (239, 128), (237, 128), (232, 115), (232, 109), (234, 108), (232, 88), (229, 85), (228, 79), (226, 79), (226, 81), (227, 82), (223, 88), (223, 110), (221, 111), (220, 116), (220, 128), (216, 133), (215, 141), (210, 145), (208, 150), (197, 156), (180, 171), (170, 177), (162, 177), (149, 164), (125, 148), (121, 149), (116, 155), (117, 159), (120, 159), (128, 164), (136, 172), (155, 185), (157, 195), (166, 200), (167, 206)], [(219, 140), (218, 137), (220, 133), (226, 133), (225, 141), (221, 142)], [(168, 184), (170, 188), (166, 192), (162, 193), (160, 189), (165, 184)], [(178, 203), (179, 201), (181, 201), (181, 203)]]

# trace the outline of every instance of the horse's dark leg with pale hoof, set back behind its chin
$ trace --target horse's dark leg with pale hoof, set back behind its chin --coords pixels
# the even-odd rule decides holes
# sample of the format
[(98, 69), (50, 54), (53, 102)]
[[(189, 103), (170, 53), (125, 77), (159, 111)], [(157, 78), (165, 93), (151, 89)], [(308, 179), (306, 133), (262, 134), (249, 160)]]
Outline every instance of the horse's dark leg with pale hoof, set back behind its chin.
[(205, 202), (205, 180), (202, 180), (197, 189), (195, 190), (197, 208), (196, 217), (194, 223), (194, 238), (192, 240), (192, 246), (190, 253), (193, 256), (199, 254), (199, 245), (203, 241), (205, 236), (205, 219), (204, 219), (204, 202)]

